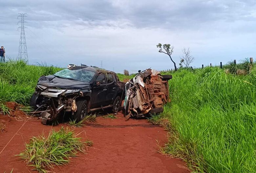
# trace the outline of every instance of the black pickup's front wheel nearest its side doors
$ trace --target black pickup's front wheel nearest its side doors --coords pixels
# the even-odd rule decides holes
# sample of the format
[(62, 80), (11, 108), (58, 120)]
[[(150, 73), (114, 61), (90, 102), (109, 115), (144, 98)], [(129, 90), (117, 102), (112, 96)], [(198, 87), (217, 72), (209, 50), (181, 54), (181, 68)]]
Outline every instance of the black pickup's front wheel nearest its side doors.
[(76, 122), (79, 122), (87, 115), (88, 102), (87, 100), (78, 100), (76, 106), (77, 110), (72, 117)]

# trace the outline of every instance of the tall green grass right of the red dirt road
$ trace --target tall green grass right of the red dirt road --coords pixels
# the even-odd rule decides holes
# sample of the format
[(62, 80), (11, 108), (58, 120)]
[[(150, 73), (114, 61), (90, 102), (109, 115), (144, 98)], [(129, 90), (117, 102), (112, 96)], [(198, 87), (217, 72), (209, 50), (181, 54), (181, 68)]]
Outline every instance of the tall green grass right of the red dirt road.
[(162, 152), (195, 172), (256, 172), (256, 68), (245, 76), (217, 67), (179, 70), (169, 84)]

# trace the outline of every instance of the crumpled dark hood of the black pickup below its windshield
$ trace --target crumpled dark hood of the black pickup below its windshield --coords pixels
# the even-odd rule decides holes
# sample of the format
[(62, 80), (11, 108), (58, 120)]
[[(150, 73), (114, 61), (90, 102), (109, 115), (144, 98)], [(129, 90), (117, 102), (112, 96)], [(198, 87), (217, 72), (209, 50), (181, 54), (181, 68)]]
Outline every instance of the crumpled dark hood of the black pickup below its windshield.
[(82, 89), (84, 87), (90, 86), (88, 82), (75, 81), (71, 79), (58, 78), (53, 75), (41, 76), (38, 80), (39, 85), (45, 87), (54, 88), (66, 88), (66, 89)]

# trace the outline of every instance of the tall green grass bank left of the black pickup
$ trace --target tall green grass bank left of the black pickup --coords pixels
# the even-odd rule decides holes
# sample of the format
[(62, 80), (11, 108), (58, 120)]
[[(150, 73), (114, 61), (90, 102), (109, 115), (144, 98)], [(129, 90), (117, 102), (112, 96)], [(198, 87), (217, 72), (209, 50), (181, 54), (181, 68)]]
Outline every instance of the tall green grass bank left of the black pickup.
[(38, 78), (61, 68), (44, 64), (28, 65), (25, 60), (9, 60), (0, 65), (0, 102), (28, 105)]

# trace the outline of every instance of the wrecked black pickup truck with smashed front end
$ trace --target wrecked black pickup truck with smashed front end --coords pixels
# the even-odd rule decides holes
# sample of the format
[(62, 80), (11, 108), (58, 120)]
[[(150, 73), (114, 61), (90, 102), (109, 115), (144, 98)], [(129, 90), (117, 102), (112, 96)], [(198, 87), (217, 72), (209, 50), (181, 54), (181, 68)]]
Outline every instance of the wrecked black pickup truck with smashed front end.
[(124, 82), (117, 74), (92, 66), (71, 66), (53, 75), (41, 76), (30, 105), (51, 124), (60, 112), (71, 112), (77, 122), (99, 109), (120, 109)]

